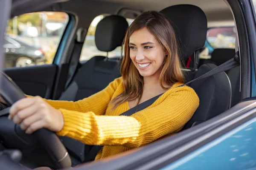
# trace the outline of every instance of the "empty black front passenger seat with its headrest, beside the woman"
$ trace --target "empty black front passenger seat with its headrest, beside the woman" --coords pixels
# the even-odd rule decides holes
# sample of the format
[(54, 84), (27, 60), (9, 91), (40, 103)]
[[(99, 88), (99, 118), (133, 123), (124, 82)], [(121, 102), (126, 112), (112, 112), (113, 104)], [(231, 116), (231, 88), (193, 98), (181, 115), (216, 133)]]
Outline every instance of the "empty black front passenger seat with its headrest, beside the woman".
[[(95, 43), (99, 51), (113, 51), (122, 45), (128, 22), (124, 17), (111, 15), (103, 18), (95, 31)], [(121, 52), (120, 52), (121, 57)], [(120, 77), (118, 59), (95, 56), (81, 64), (59, 100), (77, 101), (104, 89), (115, 78)]]

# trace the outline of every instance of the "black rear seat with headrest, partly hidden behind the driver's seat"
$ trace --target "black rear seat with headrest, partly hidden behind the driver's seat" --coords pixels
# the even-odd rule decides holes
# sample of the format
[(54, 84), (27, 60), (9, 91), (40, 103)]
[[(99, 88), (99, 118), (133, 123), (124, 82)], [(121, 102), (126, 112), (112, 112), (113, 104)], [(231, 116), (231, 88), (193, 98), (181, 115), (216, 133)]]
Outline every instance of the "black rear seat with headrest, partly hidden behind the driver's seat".
[[(236, 54), (236, 50), (232, 48), (218, 48), (212, 52), (212, 58), (209, 60), (210, 63), (215, 65), (221, 65), (224, 62), (232, 59)], [(226, 71), (227, 76), (230, 79), (232, 97), (231, 107), (236, 105), (240, 99), (240, 66), (232, 68)]]

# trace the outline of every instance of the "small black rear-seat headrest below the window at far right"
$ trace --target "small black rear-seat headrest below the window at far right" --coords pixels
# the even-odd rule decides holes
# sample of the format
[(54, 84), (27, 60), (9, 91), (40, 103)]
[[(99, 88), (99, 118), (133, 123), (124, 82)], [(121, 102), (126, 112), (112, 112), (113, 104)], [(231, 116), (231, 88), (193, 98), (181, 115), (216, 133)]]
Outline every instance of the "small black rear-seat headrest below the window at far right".
[(215, 65), (221, 65), (227, 60), (232, 59), (236, 54), (235, 49), (232, 48), (217, 48), (212, 51), (211, 61), (214, 62)]

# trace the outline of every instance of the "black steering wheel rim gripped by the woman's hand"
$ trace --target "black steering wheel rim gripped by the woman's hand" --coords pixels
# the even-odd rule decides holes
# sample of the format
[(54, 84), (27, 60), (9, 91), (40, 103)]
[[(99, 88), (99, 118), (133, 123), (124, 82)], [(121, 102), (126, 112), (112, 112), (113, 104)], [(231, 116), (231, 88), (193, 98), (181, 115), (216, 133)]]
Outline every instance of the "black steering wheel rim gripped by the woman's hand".
[[(26, 97), (16, 83), (3, 72), (0, 93), (8, 105), (12, 105), (18, 100)], [(47, 129), (40, 129), (33, 134), (51, 157), (52, 164), (55, 166), (54, 168), (60, 169), (71, 167), (70, 156), (55, 133)]]

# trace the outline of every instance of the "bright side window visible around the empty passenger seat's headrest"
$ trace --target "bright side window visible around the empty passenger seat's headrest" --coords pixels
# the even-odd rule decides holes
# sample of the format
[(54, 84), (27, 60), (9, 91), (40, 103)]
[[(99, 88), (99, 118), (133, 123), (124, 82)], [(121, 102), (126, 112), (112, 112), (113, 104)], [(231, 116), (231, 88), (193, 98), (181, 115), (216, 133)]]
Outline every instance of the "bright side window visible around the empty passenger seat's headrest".
[[(96, 26), (99, 23), (100, 20), (102, 20), (106, 15), (99, 15), (95, 17), (90, 24), (90, 27), (88, 28), (87, 31), (87, 36), (84, 41), (84, 45), (81, 51), (81, 56), (80, 56), (80, 61), (84, 60), (89, 60), (90, 58), (100, 55), (100, 56), (107, 56), (107, 53), (104, 51), (99, 51), (96, 48), (95, 45), (95, 31), (96, 31)], [(131, 25), (131, 23), (134, 21), (134, 19), (126, 19), (128, 24)], [(121, 47), (117, 47), (115, 50), (108, 52), (108, 57), (120, 57), (121, 56)]]

